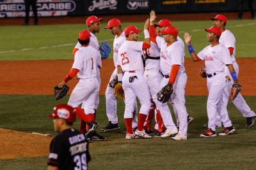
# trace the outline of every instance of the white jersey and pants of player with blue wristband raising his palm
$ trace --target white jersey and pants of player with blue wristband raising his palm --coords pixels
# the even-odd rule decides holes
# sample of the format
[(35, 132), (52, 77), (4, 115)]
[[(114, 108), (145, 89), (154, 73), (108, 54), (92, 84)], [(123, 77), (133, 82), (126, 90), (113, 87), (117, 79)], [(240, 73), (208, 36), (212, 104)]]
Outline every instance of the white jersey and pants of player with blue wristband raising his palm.
[[(216, 115), (218, 105), (223, 105), (223, 94), (225, 93), (226, 78), (225, 78), (225, 66), (232, 64), (230, 59), (230, 53), (225, 46), (219, 44), (211, 47), (206, 46), (204, 50), (199, 52), (198, 57), (201, 60), (205, 60), (205, 69), (207, 73), (207, 89), (209, 92), (207, 99), (207, 115), (208, 115), (208, 128), (212, 131), (215, 130)], [(221, 112), (221, 118), (229, 120), (228, 113)], [(232, 126), (231, 121), (225, 123), (225, 127)]]

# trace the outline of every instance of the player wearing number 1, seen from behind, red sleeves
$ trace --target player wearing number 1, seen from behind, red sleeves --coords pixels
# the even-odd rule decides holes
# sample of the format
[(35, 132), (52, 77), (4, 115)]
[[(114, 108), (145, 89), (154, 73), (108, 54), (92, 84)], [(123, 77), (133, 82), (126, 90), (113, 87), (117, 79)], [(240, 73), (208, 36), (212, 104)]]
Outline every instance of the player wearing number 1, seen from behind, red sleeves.
[[(84, 122), (94, 122), (95, 100), (99, 89), (99, 81), (97, 79), (97, 50), (89, 46), (91, 34), (89, 31), (79, 32), (79, 43), (81, 47), (77, 50), (74, 58), (72, 69), (61, 81), (58, 87), (63, 87), (74, 76), (78, 77), (78, 83), (72, 91), (68, 100), (68, 105), (76, 108), (77, 116)], [(84, 111), (79, 105), (84, 102)], [(84, 133), (84, 128), (80, 128), (80, 132)], [(92, 136), (88, 136), (91, 138)]]

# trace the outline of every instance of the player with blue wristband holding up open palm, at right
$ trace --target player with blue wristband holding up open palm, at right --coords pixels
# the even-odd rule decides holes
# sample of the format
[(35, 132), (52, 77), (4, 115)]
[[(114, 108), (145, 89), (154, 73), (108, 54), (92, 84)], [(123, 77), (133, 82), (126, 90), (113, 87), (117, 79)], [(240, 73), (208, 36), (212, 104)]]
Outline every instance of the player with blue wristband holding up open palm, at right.
[[(218, 104), (223, 103), (223, 93), (225, 93), (225, 66), (228, 67), (234, 82), (238, 82), (228, 49), (219, 42), (221, 36), (220, 29), (213, 26), (209, 29), (205, 29), (205, 31), (208, 32), (207, 41), (209, 41), (211, 45), (206, 46), (204, 50), (199, 53), (196, 53), (191, 45), (191, 36), (187, 32), (184, 34), (185, 43), (188, 46), (191, 59), (193, 61), (205, 60), (209, 96), (207, 99), (208, 129), (204, 134), (200, 135), (200, 137), (203, 138), (216, 136), (215, 128)], [(221, 112), (221, 117), (228, 117), (228, 113)], [(231, 122), (227, 129), (230, 133), (236, 131)], [(219, 135), (226, 135), (226, 132), (222, 132)]]

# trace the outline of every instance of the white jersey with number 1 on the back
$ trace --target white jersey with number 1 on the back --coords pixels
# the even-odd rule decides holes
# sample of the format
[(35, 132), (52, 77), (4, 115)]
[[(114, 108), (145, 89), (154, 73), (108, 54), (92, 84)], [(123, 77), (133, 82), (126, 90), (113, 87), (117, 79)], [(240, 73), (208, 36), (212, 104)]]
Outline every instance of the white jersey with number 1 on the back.
[(77, 77), (88, 79), (97, 76), (96, 71), (97, 51), (92, 46), (82, 46), (75, 54), (72, 68), (79, 69)]

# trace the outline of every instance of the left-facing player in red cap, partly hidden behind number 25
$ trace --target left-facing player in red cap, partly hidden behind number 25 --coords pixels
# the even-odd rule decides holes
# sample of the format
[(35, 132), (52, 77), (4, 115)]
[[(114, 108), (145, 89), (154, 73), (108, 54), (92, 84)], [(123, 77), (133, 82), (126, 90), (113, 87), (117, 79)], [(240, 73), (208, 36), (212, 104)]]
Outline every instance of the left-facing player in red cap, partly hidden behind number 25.
[[(109, 29), (109, 31), (115, 35), (115, 39), (113, 42), (113, 61), (115, 65), (115, 70), (111, 74), (109, 83), (113, 81), (117, 77), (117, 69), (116, 69), (116, 61), (117, 61), (117, 55), (118, 55), (118, 49), (120, 46), (124, 43), (125, 41), (125, 33), (122, 30), (120, 20), (117, 18), (113, 18), (109, 20), (108, 25), (105, 27), (105, 29)], [(116, 114), (116, 97), (114, 94), (114, 89), (113, 87), (110, 87), (108, 85), (106, 92), (105, 92), (105, 97), (106, 97), (106, 113), (108, 116), (109, 124), (101, 129), (102, 131), (113, 131), (115, 129), (120, 129), (118, 125), (118, 117)], [(136, 129), (138, 125), (138, 108), (137, 108), (137, 103), (134, 103), (134, 119), (132, 121), (132, 129)]]

